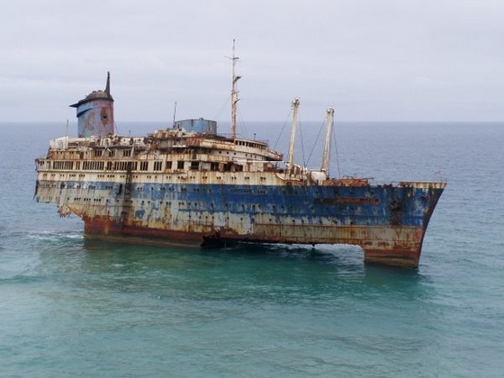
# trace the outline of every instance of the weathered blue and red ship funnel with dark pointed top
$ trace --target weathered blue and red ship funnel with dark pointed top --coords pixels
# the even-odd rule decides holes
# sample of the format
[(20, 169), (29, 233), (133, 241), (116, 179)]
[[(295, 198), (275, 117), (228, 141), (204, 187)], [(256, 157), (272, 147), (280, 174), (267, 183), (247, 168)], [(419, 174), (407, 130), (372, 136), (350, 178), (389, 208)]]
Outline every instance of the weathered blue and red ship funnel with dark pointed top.
[(78, 120), (78, 137), (106, 137), (114, 134), (113, 98), (110, 94), (110, 72), (107, 72), (107, 83), (104, 91), (93, 91), (83, 100), (70, 105), (76, 108)]

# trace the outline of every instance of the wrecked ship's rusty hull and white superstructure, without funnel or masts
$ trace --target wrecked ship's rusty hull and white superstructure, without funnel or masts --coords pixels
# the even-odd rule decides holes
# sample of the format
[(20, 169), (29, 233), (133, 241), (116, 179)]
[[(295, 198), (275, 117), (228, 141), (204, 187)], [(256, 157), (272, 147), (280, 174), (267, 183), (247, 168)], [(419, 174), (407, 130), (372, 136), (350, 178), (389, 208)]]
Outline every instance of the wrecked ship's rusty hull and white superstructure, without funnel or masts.
[(285, 164), (264, 141), (226, 138), (213, 132), (213, 121), (199, 121), (211, 132), (175, 122), (146, 137), (53, 139), (36, 160), (35, 198), (55, 202), (61, 216), (81, 217), (87, 238), (202, 247), (343, 243), (362, 247), (369, 263), (419, 265), (446, 182), (333, 179)]

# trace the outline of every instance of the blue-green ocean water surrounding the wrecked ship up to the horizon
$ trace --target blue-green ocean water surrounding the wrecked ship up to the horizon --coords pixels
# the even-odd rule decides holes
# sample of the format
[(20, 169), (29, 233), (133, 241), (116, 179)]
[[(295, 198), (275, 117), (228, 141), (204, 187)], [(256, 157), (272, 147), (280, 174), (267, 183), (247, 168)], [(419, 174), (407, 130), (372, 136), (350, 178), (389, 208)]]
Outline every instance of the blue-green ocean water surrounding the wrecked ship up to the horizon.
[[(245, 126), (273, 147), (283, 124)], [(302, 124), (298, 162), (319, 164), (319, 128)], [(504, 123), (337, 122), (333, 175), (447, 178), (418, 270), (365, 266), (350, 246), (85, 240), (33, 201), (33, 159), (65, 126), (0, 130), (0, 376), (504, 374)]]

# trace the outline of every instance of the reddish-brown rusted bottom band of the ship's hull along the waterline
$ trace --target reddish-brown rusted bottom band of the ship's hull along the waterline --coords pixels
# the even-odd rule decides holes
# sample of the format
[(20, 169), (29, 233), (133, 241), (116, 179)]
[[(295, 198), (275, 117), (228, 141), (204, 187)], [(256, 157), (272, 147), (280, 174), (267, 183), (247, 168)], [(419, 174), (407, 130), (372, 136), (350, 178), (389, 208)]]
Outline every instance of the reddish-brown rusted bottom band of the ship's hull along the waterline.
[(128, 244), (145, 244), (161, 247), (227, 247), (237, 242), (272, 243), (272, 244), (347, 244), (362, 247), (365, 252), (365, 263), (389, 266), (419, 266), (422, 241), (425, 231), (414, 227), (338, 227), (333, 237), (320, 238), (320, 243), (307, 243), (304, 236), (311, 235), (314, 240), (316, 231), (304, 227), (299, 236), (275, 236), (275, 230), (284, 227), (268, 228), (267, 233), (240, 236), (230, 232), (211, 234), (172, 231), (166, 229), (149, 229), (139, 226), (122, 226), (109, 219), (85, 220), (85, 238), (102, 239)]

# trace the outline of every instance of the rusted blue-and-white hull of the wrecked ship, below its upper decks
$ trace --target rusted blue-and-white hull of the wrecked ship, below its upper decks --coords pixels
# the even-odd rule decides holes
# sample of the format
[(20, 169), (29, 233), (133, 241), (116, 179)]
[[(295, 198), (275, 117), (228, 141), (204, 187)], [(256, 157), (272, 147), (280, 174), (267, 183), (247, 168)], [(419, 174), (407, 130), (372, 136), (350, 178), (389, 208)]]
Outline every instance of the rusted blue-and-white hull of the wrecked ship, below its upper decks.
[[(236, 174), (218, 175), (224, 182), (236, 180)], [(352, 180), (316, 185), (273, 174), (275, 185), (191, 184), (202, 179), (196, 173), (176, 177), (184, 184), (138, 178), (129, 185), (88, 182), (83, 188), (41, 180), (37, 199), (57, 200), (62, 214), (82, 217), (87, 238), (199, 247), (240, 241), (350, 244), (364, 249), (366, 262), (416, 267), (444, 189), (439, 183), (353, 185)]]

